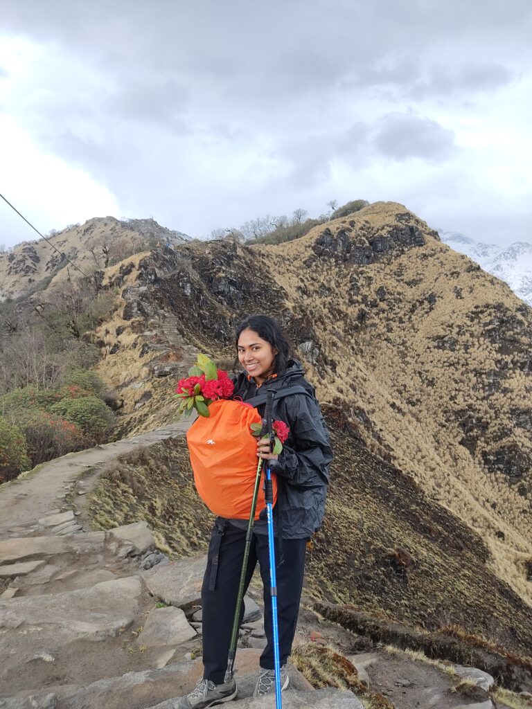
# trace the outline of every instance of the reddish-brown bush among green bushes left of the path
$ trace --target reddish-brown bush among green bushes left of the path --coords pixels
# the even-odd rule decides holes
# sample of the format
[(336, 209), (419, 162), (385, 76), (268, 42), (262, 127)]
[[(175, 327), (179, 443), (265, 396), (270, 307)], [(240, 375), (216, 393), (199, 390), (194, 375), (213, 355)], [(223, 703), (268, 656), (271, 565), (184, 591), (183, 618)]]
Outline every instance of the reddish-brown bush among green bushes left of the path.
[(82, 432), (73, 423), (46, 411), (19, 411), (16, 423), (26, 437), (33, 466), (74, 450), (82, 450), (86, 445)]

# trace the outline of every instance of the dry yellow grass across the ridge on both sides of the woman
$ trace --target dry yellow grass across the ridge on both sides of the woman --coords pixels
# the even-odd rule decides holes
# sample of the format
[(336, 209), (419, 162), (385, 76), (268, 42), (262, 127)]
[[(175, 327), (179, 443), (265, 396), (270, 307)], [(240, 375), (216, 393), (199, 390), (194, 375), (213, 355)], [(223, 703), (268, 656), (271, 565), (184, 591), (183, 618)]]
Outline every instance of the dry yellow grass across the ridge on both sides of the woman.
[[(345, 230), (344, 238), (356, 247), (411, 227), (423, 235), (424, 245), (396, 247), (359, 265), (316, 255), (316, 240), (326, 227), (333, 238)], [(501, 445), (528, 459), (532, 455), (530, 432), (515, 419), (516, 412), (531, 411), (530, 374), (518, 360), (531, 345), (532, 311), (509, 286), (450, 250), (397, 203), (373, 204), (282, 245), (236, 247), (228, 265), (224, 259), (231, 249), (234, 253), (234, 245), (186, 248), (194, 287), (205, 288), (197, 281), (201, 268), (209, 267), (215, 279), (228, 273), (240, 277), (239, 268), (255, 268), (256, 278), (267, 273), (270, 286), (277, 286), (276, 297), (281, 294), (283, 300), (276, 307), (309, 314), (321, 357), (312, 364), (299, 354), (321, 401), (345, 408), (372, 452), (411, 475), (429, 498), (477, 532), (489, 547), (489, 569), (531, 603), (526, 580), (532, 559), (530, 471), (515, 481), (486, 465)], [(133, 271), (123, 286), (135, 284), (144, 258), (126, 259)], [(217, 258), (221, 265), (211, 266)], [(106, 283), (113, 282), (120, 267), (108, 270)], [(254, 277), (252, 271), (246, 275)], [(179, 304), (186, 307), (187, 301)], [(231, 315), (231, 306), (221, 298), (216, 307), (221, 317)], [(179, 308), (170, 311), (178, 318)], [(154, 378), (148, 366), (154, 352), (140, 355), (144, 343), (161, 341), (157, 333), (163, 319), (124, 321), (120, 308), (97, 333), (106, 352), (117, 340), (121, 344), (101, 362), (99, 374), (123, 397), (123, 432), (155, 428), (174, 416), (170, 394), (175, 378)], [(119, 337), (117, 326), (126, 328)], [(167, 351), (182, 358), (183, 372), (202, 342), (211, 343), (211, 354), (231, 354), (222, 345), (212, 351), (212, 338), (204, 336), (200, 323), (197, 327), (187, 341), (177, 333), (162, 337)], [(143, 393), (152, 398), (137, 409)], [(360, 412), (369, 425), (360, 424)], [(465, 431), (464, 421), (470, 430)], [(475, 438), (469, 448), (468, 435)]]

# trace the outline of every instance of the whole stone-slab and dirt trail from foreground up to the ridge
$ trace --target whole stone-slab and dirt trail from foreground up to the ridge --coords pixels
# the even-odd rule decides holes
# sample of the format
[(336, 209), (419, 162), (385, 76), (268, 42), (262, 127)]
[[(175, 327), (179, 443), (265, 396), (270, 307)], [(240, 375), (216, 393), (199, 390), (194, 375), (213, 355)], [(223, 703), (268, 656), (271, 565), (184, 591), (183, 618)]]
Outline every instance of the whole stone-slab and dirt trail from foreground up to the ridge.
[[(0, 709), (174, 709), (201, 677), (205, 557), (169, 562), (156, 549), (145, 522), (86, 531), (63, 492), (84, 466), (103, 464), (132, 445), (170, 435), (182, 435), (180, 425), (66, 456), (1, 486)], [(85, 480), (83, 491), (91, 484)], [(252, 697), (266, 642), (261, 596), (252, 584), (245, 598), (235, 665), (239, 693), (231, 704), (235, 709), (275, 705), (273, 697)], [(306, 622), (300, 621), (299, 640), (311, 636)], [(310, 622), (314, 627), (319, 623), (316, 615)], [(329, 642), (338, 633), (345, 643), (355, 640), (338, 628), (333, 632), (332, 624), (320, 627), (331, 632)], [(321, 634), (314, 635), (318, 642)], [(323, 635), (321, 640), (328, 642)], [(350, 656), (360, 681), (375, 691), (393, 671), (384, 655), (374, 648)], [(405, 699), (401, 703), (401, 695), (394, 694), (397, 709), (493, 706), (488, 696), (493, 679), (484, 673), (457, 669), (483, 693), (467, 703), (449, 693), (453, 681), (441, 679), (436, 669), (427, 682), (428, 670), (418, 668), (416, 676), (413, 666), (405, 673), (414, 681), (401, 685), (399, 679)], [(314, 690), (293, 666), (289, 675), (285, 709), (364, 707), (350, 691)], [(383, 691), (389, 696), (389, 690)]]

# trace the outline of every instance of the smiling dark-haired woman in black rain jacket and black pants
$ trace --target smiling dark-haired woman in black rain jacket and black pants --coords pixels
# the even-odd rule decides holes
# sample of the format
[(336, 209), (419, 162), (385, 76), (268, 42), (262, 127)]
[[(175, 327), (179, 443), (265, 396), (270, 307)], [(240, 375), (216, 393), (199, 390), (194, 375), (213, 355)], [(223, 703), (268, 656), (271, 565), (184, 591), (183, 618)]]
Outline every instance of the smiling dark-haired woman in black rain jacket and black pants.
[[(277, 614), (282, 688), (288, 685), (286, 662), (292, 652), (299, 599), (303, 586), (306, 542), (323, 519), (332, 452), (328, 431), (314, 397), (314, 387), (304, 378), (301, 364), (289, 357), (289, 345), (275, 320), (251, 316), (238, 325), (235, 337), (238, 361), (245, 370), (233, 381), (233, 398), (243, 401), (257, 393), (298, 384), (309, 395), (292, 393), (274, 400), (273, 418), (290, 428), (279, 456), (270, 453), (267, 438), (257, 442), (257, 457), (278, 459), (277, 503), (274, 508)], [(264, 389), (262, 389), (264, 387)], [(265, 405), (258, 406), (264, 415)], [(224, 683), (233, 615), (242, 569), (247, 520), (216, 518), (211, 534), (207, 568), (201, 591), (203, 608), (204, 677), (182, 698), (179, 708), (206, 709), (236, 698), (233, 678)], [(280, 544), (279, 544), (280, 540)], [(274, 651), (270, 600), (265, 510), (253, 527), (245, 589), (260, 564), (264, 586), (267, 645), (260, 656), (255, 696), (275, 692)], [(243, 614), (243, 609), (242, 609)], [(241, 621), (241, 619), (240, 619)]]

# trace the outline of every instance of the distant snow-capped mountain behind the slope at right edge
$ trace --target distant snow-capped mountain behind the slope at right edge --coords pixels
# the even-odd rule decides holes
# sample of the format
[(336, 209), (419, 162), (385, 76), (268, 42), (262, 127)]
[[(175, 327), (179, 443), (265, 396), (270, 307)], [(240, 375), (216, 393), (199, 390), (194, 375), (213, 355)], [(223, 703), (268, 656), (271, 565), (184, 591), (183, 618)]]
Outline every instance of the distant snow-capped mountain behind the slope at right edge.
[(488, 273), (506, 281), (512, 291), (532, 306), (532, 244), (516, 241), (507, 248), (476, 242), (463, 234), (439, 231), (440, 239), (469, 256)]

